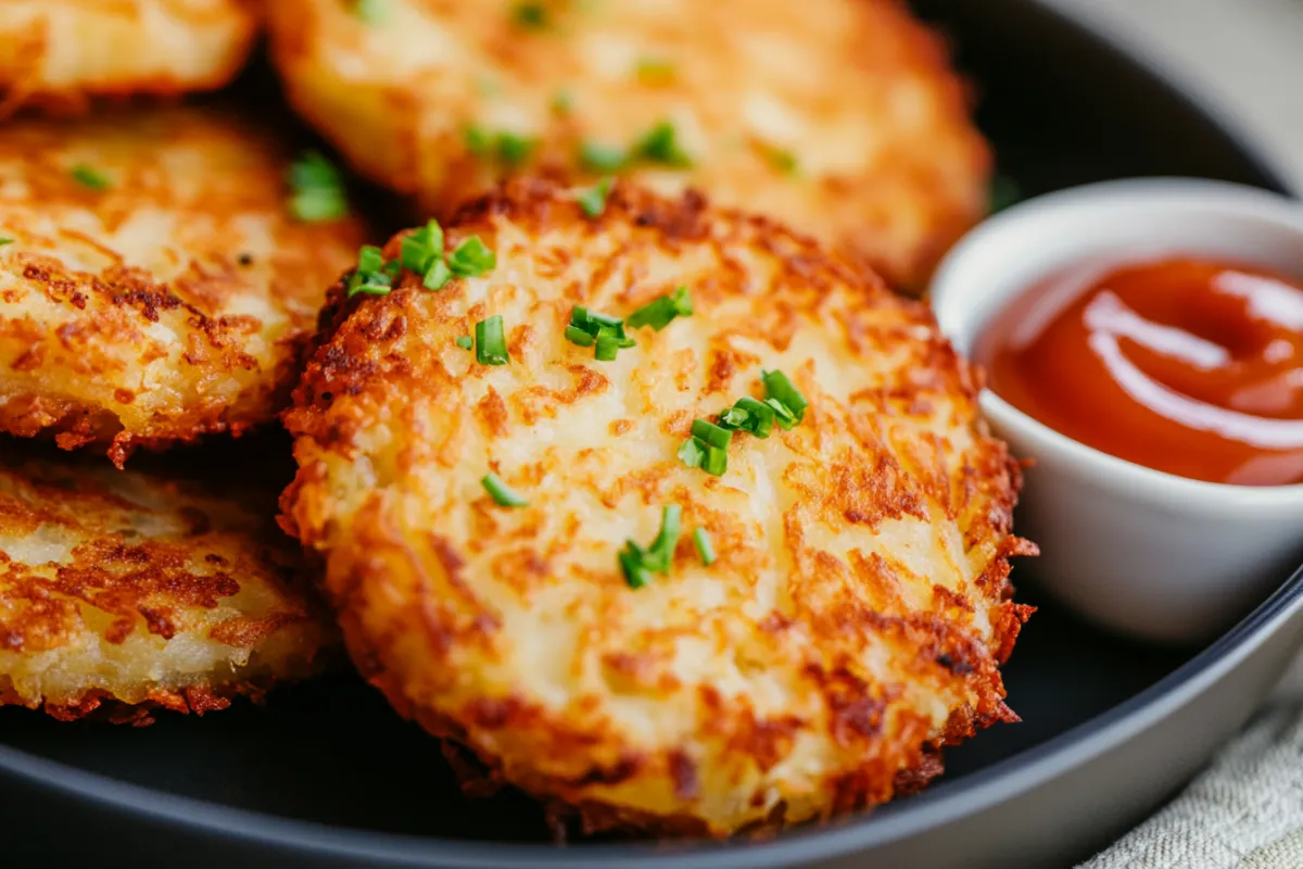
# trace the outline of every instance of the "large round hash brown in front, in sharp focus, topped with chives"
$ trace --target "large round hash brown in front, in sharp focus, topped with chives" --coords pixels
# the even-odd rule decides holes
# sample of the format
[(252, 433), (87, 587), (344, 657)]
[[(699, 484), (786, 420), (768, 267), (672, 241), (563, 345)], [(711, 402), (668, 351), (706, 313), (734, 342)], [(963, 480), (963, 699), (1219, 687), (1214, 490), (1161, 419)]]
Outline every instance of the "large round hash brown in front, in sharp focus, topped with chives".
[[(923, 304), (764, 218), (624, 182), (588, 219), (519, 180), (447, 235), (496, 270), (340, 304), (285, 414), (283, 521), (399, 711), (589, 830), (710, 835), (881, 803), (1014, 718), (998, 664), (1029, 607), (1007, 558), (1035, 547)], [(623, 317), (680, 285), (694, 313), (615, 361), (563, 337), (576, 305)], [(507, 365), (455, 343), (490, 315)], [(804, 421), (735, 434), (722, 477), (680, 463), (693, 418), (762, 397), (762, 369)], [(528, 506), (499, 507), (490, 472)], [(618, 550), (667, 504), (672, 569), (631, 589)]]

